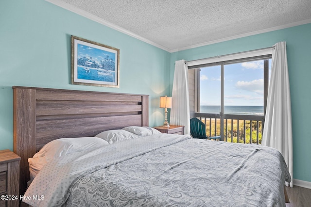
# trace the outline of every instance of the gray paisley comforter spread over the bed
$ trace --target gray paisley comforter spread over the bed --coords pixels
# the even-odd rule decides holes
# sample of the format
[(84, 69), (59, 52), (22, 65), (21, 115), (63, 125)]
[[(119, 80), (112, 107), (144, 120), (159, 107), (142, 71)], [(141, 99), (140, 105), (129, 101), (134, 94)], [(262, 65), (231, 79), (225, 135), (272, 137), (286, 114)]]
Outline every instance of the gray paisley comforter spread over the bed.
[[(270, 147), (155, 135), (48, 163), (24, 202), (38, 207), (285, 207), (290, 182)], [(27, 198), (27, 197), (26, 197)]]

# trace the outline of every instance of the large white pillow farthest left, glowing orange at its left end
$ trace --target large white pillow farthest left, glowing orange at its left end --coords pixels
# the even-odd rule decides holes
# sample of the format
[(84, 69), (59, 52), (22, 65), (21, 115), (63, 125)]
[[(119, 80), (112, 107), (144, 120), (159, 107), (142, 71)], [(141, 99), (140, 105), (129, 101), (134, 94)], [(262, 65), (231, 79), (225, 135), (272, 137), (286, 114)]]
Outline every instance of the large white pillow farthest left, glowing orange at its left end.
[(97, 149), (108, 145), (98, 137), (61, 138), (45, 144), (33, 158), (28, 158), (31, 180), (39, 173), (41, 168), (53, 159), (89, 149)]

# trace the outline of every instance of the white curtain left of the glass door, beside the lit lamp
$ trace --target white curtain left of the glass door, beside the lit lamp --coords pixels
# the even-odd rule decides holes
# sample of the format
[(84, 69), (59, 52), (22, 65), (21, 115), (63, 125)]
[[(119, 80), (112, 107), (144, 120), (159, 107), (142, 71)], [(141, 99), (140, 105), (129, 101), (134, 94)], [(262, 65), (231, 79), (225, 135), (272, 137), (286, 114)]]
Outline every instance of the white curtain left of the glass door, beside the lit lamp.
[(185, 134), (190, 134), (190, 106), (188, 89), (188, 67), (185, 64), (185, 60), (176, 61), (170, 124), (185, 126)]

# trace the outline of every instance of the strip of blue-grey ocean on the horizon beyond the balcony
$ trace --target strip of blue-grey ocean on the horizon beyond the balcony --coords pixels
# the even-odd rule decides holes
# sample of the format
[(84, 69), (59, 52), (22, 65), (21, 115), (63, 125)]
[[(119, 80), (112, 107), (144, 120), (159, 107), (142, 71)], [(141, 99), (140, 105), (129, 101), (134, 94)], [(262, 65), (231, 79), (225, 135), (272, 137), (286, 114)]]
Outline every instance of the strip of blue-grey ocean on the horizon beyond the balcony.
[[(219, 113), (220, 106), (200, 106), (201, 113)], [(263, 106), (225, 106), (225, 114), (263, 115)]]

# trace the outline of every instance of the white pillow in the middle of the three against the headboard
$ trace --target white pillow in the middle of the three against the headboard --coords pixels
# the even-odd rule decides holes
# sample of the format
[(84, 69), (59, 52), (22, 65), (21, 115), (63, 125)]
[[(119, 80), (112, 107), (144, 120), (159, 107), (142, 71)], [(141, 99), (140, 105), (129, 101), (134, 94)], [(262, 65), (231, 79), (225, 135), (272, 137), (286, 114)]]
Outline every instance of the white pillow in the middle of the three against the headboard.
[(129, 131), (125, 131), (122, 129), (114, 129), (114, 130), (103, 131), (99, 133), (98, 135), (96, 135), (95, 137), (102, 138), (105, 141), (107, 141), (109, 144), (111, 144), (111, 143), (121, 142), (123, 140), (135, 139), (138, 136)]

